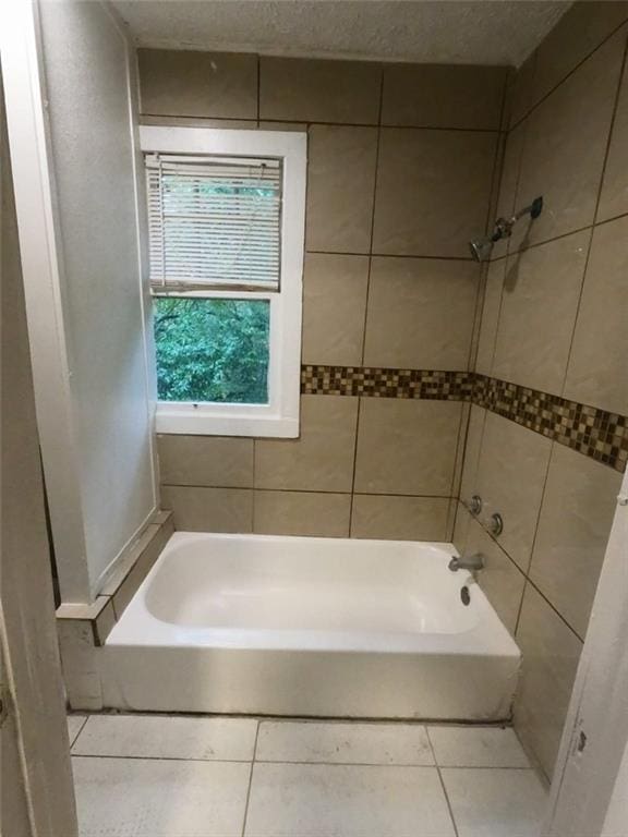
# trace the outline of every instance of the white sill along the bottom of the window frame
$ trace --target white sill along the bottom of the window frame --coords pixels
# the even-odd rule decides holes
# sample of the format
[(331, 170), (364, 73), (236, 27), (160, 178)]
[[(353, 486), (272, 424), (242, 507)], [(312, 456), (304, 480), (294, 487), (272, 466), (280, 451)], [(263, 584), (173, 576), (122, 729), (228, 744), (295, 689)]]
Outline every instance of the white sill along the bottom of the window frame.
[(158, 403), (155, 429), (157, 433), (185, 436), (255, 436), (295, 439), (299, 437), (299, 417), (261, 412), (256, 407), (244, 407), (239, 411), (230, 405), (227, 412), (206, 405), (195, 408), (192, 404), (174, 407)]

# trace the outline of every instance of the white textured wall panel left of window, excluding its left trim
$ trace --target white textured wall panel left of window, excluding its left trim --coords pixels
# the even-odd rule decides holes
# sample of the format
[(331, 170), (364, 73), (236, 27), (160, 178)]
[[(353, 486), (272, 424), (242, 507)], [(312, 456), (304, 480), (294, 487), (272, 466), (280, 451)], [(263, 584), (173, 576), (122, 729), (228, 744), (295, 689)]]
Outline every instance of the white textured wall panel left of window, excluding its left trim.
[(41, 40), (92, 593), (155, 508), (126, 40), (44, 2)]

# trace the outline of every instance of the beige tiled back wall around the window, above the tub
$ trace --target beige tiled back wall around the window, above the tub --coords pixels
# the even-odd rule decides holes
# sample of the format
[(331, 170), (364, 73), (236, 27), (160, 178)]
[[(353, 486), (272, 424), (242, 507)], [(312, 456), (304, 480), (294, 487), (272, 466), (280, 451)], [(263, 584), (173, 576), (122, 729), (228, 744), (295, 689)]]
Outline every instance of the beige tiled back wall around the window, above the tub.
[(160, 436), (177, 527), (449, 539), (507, 70), (138, 58), (146, 123), (309, 134), (301, 437)]

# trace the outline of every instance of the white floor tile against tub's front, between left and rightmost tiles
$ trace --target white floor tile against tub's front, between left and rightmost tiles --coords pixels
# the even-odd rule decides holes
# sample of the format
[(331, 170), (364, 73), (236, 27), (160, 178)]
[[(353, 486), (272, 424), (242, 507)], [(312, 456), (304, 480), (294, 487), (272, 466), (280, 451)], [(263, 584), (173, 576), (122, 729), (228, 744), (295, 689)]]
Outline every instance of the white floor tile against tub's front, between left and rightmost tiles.
[(257, 761), (434, 764), (425, 728), (410, 724), (263, 721)]

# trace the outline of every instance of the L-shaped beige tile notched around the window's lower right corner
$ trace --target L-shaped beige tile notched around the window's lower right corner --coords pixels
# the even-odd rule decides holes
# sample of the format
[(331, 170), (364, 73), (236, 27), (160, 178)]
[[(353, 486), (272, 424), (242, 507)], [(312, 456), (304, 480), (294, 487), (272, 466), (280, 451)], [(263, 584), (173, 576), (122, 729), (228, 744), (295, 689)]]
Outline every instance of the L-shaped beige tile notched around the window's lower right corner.
[(255, 487), (350, 492), (358, 399), (302, 396), (299, 439), (255, 441)]

